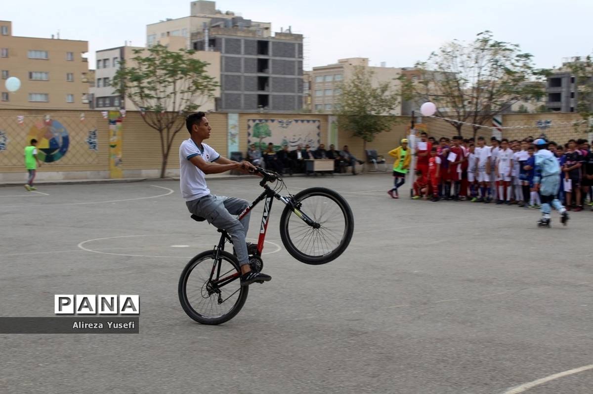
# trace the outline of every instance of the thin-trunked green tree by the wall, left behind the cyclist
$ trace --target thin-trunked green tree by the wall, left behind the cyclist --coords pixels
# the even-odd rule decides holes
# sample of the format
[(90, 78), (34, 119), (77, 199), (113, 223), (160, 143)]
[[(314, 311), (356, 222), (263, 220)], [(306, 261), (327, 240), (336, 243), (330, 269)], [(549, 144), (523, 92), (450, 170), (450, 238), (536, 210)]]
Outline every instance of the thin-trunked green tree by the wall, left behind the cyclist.
[(170, 51), (162, 45), (134, 50), (129, 62), (122, 60), (113, 77), (114, 93), (126, 97), (142, 112), (142, 119), (158, 131), (161, 142), (161, 178), (175, 135), (185, 118), (213, 97), (218, 86), (206, 72), (208, 63), (195, 59), (195, 51)]

